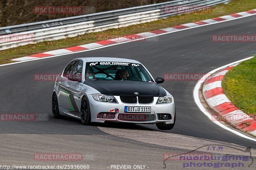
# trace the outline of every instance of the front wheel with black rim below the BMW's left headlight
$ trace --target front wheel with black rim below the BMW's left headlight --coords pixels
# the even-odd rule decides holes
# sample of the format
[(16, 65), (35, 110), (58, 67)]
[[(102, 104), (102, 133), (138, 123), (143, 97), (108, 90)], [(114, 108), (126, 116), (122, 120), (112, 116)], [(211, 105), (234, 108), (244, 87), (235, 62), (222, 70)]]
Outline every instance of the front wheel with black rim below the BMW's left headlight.
[(82, 99), (80, 114), (81, 114), (81, 122), (84, 125), (88, 125), (91, 123), (91, 110), (90, 110), (88, 98), (86, 96), (84, 96)]

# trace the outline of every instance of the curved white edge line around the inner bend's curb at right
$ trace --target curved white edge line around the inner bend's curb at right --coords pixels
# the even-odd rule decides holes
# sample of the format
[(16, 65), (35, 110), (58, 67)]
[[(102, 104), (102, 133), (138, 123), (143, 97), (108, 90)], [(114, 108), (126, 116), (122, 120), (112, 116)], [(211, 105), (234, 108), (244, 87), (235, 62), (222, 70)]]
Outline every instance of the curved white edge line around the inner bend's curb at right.
[[(221, 69), (224, 69), (226, 67), (229, 67), (233, 64), (236, 64), (236, 63), (241, 63), (245, 60), (249, 60), (251, 58), (253, 58), (254, 56), (252, 57), (248, 57), (248, 58), (245, 58), (245, 59), (242, 59), (242, 60), (239, 60), (239, 61), (236, 61), (236, 62), (233, 62), (233, 63), (230, 63), (230, 64), (227, 64), (227, 65), (224, 65), (222, 67), (219, 67), (217, 69), (214, 69), (212, 71), (210, 71), (209, 73), (206, 74), (206, 78), (208, 78), (211, 74), (215, 73), (216, 71), (219, 71)], [(205, 77), (204, 77), (205, 79)], [(256, 142), (256, 139), (255, 138), (252, 138), (252, 137), (249, 137), (249, 136), (246, 136), (244, 134), (242, 134), (241, 132), (238, 132), (236, 130), (233, 130), (231, 128), (228, 128), (227, 126), (225, 126), (224, 124), (220, 123), (219, 121), (217, 121), (205, 108), (204, 106), (202, 105), (202, 103), (200, 102), (200, 97), (199, 97), (199, 89), (201, 87), (201, 85), (204, 83), (204, 80), (203, 79), (200, 79), (197, 83), (196, 83), (196, 86), (194, 88), (194, 91), (193, 91), (193, 96), (194, 96), (194, 100), (196, 102), (196, 105), (199, 107), (199, 109), (204, 113), (204, 115), (206, 115), (210, 120), (212, 120), (213, 123), (219, 125), (221, 128), (223, 129), (226, 129), (228, 130), (229, 132), (231, 133), (234, 133), (240, 137), (244, 137), (246, 139), (249, 139), (249, 140), (252, 140), (252, 141), (255, 141)]]

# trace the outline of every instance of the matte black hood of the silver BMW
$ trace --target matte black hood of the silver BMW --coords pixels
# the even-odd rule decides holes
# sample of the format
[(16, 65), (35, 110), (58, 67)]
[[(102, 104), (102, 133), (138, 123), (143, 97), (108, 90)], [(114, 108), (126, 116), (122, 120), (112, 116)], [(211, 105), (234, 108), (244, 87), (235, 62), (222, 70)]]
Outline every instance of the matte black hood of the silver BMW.
[(121, 80), (85, 80), (85, 85), (98, 90), (101, 94), (120, 96), (135, 95), (136, 96), (165, 96), (165, 90), (156, 83), (142, 81), (121, 81)]

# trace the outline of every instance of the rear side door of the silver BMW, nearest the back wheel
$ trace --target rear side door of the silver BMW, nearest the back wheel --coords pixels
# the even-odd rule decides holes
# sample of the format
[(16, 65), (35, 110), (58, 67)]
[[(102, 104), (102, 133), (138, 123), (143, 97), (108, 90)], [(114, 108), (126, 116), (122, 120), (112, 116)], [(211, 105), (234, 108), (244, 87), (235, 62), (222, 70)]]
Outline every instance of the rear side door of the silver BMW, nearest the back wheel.
[(70, 100), (72, 92), (69, 90), (70, 80), (68, 77), (72, 76), (76, 63), (77, 61), (69, 63), (64, 69), (63, 74), (59, 77), (59, 80), (57, 80), (59, 85), (59, 106), (71, 111), (73, 111), (74, 108), (72, 106), (72, 100)]

